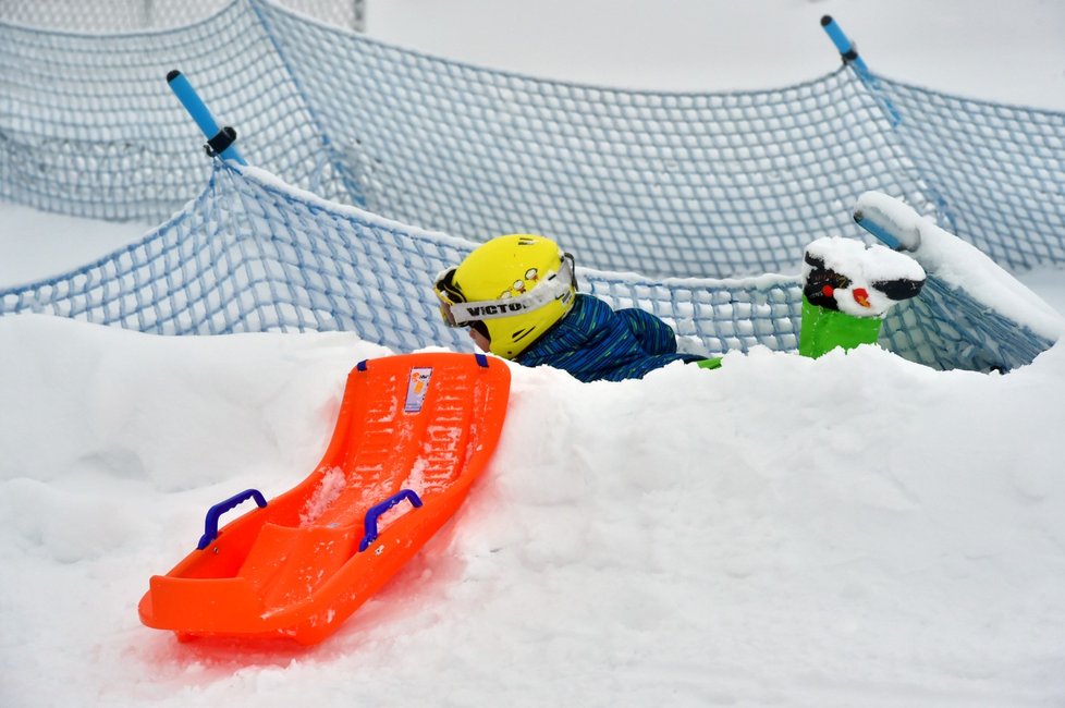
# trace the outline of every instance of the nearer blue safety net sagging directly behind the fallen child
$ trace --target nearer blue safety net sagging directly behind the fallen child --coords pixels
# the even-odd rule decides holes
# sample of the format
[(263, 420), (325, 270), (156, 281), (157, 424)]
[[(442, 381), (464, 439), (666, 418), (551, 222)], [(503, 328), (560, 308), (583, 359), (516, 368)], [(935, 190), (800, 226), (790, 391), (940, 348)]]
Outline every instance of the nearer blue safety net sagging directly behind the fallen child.
[[(0, 315), (46, 313), (164, 334), (347, 330), (395, 351), (472, 346), (465, 330), (444, 326), (431, 279), (475, 243), (326, 202), (255, 168), (213, 164), (207, 190), (143, 241), (0, 292)], [(798, 346), (797, 277), (653, 280), (589, 269), (578, 277), (615, 308), (668, 320), (687, 351)], [(927, 290), (885, 324), (883, 343), (903, 356), (1009, 369), (1051, 344), (964, 291)]]

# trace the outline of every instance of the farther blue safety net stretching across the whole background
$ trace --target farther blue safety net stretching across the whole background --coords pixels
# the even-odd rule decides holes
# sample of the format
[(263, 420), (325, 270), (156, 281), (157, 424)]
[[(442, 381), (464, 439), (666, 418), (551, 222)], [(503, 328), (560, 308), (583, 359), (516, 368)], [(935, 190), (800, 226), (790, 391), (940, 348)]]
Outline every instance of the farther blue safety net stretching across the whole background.
[(588, 265), (656, 277), (791, 271), (806, 243), (860, 235), (849, 205), (877, 190), (1004, 265), (1065, 261), (1062, 113), (846, 68), (720, 94), (542, 81), (273, 0), (130, 35), (0, 24), (0, 198), (110, 219), (180, 208), (206, 167), (163, 81), (175, 68), (250, 163), (473, 241), (544, 233)]

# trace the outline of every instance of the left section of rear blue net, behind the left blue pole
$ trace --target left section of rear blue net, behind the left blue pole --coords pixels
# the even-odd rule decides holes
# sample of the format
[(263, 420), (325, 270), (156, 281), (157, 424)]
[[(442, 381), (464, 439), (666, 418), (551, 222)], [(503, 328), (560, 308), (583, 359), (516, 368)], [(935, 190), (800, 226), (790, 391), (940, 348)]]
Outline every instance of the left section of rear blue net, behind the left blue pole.
[(173, 69), (220, 120), (235, 117), (250, 162), (344, 197), (291, 74), (237, 1), (169, 30), (0, 24), (0, 199), (96, 219), (158, 223), (173, 215), (210, 173), (204, 138), (168, 87)]

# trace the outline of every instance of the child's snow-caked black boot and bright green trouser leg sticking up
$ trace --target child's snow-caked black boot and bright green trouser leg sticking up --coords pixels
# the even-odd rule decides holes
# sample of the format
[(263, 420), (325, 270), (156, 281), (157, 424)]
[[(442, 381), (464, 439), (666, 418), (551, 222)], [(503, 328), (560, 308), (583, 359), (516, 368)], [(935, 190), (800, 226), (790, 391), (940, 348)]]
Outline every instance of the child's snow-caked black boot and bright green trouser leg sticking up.
[(888, 310), (925, 285), (925, 269), (909, 256), (852, 239), (818, 239), (803, 260), (803, 356), (874, 344)]

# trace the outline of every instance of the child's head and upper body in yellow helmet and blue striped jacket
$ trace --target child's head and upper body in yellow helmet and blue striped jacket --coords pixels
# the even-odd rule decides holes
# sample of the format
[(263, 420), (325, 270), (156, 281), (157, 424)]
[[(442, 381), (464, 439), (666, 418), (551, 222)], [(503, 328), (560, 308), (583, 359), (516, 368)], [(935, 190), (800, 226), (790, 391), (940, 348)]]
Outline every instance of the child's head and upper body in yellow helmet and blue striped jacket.
[(437, 276), (436, 292), (448, 324), (469, 327), (482, 351), (582, 381), (638, 379), (673, 362), (719, 365), (678, 354), (673, 329), (654, 315), (578, 293), (573, 256), (544, 236), (492, 239)]

